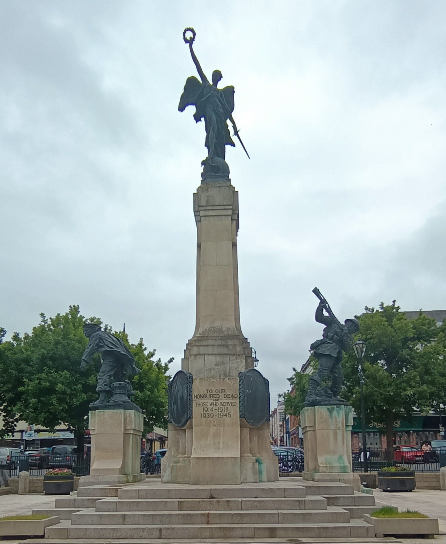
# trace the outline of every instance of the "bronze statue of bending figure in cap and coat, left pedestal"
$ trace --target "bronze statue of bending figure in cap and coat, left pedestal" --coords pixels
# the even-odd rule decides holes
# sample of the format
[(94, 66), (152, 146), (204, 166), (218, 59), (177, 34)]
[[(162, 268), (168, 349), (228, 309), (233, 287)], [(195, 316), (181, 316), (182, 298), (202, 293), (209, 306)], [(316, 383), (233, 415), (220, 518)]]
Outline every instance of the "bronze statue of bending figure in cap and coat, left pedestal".
[[(131, 403), (129, 396), (133, 394), (133, 388), (129, 379), (141, 371), (135, 366), (135, 359), (126, 344), (116, 336), (103, 331), (95, 323), (85, 323), (83, 328), (84, 335), (90, 341), (82, 355), (80, 370), (85, 370), (95, 353), (100, 354), (102, 363), (96, 387), (99, 398), (95, 403), (90, 404), (90, 407), (92, 409), (101, 407), (102, 409), (103, 406), (113, 404), (113, 402)], [(109, 394), (112, 391), (113, 396), (110, 400)]]

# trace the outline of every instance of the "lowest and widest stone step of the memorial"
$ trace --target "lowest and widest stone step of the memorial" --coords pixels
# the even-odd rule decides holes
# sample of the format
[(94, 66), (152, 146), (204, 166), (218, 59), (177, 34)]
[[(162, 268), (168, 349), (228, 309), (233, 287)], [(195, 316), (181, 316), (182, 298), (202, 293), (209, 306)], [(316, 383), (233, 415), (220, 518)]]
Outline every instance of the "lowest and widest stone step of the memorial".
[(342, 539), (374, 537), (373, 526), (356, 523), (251, 523), (190, 525), (71, 525), (48, 527), (45, 539)]

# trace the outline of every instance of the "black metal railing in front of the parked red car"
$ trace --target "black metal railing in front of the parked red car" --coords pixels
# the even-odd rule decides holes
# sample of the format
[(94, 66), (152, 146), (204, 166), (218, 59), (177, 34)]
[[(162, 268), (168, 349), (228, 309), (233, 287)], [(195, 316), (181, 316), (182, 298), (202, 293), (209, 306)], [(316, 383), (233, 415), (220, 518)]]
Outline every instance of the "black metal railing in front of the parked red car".
[[(364, 471), (363, 452), (352, 453), (352, 465), (354, 472)], [(393, 461), (389, 461), (388, 452), (385, 449), (367, 450), (367, 466), (369, 472), (380, 471), (385, 467), (405, 467), (416, 472), (438, 472), (446, 466), (446, 448), (433, 448), (431, 452), (423, 453), (421, 450), (394, 450)]]

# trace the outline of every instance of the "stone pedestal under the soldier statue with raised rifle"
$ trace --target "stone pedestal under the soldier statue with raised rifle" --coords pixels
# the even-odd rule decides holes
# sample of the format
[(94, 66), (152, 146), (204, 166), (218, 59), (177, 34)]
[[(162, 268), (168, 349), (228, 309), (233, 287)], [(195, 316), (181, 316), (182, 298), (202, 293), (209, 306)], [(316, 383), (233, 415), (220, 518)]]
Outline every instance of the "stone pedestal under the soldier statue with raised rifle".
[(300, 413), (305, 452), (303, 479), (339, 481), (360, 491), (351, 463), (351, 406), (311, 406)]

